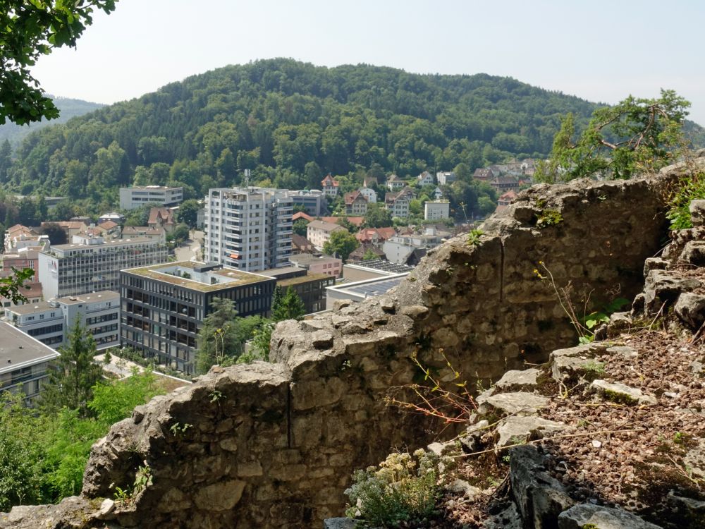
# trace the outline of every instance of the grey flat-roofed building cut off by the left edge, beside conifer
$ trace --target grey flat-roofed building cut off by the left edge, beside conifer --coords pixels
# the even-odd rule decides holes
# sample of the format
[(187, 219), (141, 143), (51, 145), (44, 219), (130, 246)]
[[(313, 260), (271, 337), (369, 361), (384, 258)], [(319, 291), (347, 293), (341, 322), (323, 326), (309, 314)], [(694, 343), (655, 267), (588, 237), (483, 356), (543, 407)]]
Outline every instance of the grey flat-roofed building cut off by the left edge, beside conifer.
[(31, 405), (59, 353), (6, 322), (0, 322), (0, 336), (0, 391), (21, 391)]

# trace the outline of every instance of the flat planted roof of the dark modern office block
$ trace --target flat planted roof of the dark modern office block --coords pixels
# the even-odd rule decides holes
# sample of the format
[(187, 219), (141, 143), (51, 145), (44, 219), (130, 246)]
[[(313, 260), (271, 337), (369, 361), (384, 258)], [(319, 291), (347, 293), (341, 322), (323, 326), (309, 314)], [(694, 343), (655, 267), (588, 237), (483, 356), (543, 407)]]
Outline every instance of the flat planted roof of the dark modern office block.
[(200, 291), (200, 292), (214, 292), (219, 290), (225, 290), (226, 288), (233, 288), (235, 286), (263, 283), (266, 281), (274, 281), (274, 277), (263, 276), (260, 274), (253, 274), (252, 272), (243, 272), (243, 270), (238, 270), (235, 268), (221, 268), (219, 270), (210, 270), (208, 274), (214, 274), (217, 276), (222, 276), (223, 279), (227, 279), (226, 283), (219, 283), (215, 285), (207, 285), (201, 283), (200, 281), (195, 281), (192, 279), (186, 279), (181, 276), (173, 276), (164, 272), (166, 269), (171, 269), (175, 267), (180, 268), (190, 268), (194, 270), (196, 267), (205, 265), (204, 262), (197, 261), (178, 261), (178, 262), (165, 262), (159, 265), (151, 265), (147, 267), (137, 267), (128, 268), (121, 270), (126, 274), (133, 274), (135, 276), (147, 277), (149, 279), (154, 279), (156, 281), (162, 281), (164, 283), (181, 286), (183, 288), (189, 288), (190, 290)]

